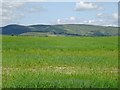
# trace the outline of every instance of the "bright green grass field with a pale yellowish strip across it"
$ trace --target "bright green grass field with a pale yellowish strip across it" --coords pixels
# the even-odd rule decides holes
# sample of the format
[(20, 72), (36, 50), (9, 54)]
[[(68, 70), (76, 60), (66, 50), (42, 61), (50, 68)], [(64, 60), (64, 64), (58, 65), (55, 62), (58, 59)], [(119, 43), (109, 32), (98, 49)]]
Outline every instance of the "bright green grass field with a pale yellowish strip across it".
[(117, 88), (117, 37), (3, 36), (3, 88)]

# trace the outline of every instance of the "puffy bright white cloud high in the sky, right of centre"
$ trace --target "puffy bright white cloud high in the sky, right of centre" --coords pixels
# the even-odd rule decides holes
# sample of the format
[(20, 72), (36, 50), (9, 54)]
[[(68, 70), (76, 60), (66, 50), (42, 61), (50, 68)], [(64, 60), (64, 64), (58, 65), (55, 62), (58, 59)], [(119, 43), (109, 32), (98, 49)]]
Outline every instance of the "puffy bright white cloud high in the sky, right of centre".
[(77, 2), (76, 7), (75, 7), (76, 11), (86, 11), (86, 10), (95, 10), (95, 9), (101, 10), (103, 8), (97, 6), (94, 3), (88, 3), (88, 2), (83, 2), (83, 1)]

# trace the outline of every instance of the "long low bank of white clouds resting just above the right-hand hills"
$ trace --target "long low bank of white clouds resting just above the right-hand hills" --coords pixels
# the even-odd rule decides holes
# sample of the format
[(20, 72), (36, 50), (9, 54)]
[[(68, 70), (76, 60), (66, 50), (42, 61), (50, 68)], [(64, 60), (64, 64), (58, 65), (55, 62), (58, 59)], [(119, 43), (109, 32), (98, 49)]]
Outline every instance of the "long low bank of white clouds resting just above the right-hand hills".
[[(100, 15), (104, 15), (103, 13)], [(57, 19), (52, 22), (53, 24), (88, 24), (88, 25), (100, 25), (100, 26), (117, 26), (118, 23), (115, 19), (108, 18), (78, 18), (78, 17), (68, 17)]]

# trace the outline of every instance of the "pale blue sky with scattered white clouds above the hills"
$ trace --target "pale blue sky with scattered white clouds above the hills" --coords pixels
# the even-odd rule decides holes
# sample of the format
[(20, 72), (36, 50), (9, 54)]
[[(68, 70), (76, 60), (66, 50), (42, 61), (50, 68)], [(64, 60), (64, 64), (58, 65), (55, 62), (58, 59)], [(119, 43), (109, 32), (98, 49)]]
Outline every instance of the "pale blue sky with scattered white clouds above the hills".
[(92, 24), (117, 26), (117, 2), (3, 2), (2, 26), (9, 24)]

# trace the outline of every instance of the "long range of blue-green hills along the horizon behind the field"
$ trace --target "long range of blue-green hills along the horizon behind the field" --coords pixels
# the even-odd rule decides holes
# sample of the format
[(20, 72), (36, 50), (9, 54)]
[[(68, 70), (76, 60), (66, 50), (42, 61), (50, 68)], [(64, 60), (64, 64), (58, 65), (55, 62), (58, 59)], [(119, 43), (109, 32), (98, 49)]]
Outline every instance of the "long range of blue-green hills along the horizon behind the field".
[(64, 25), (8, 25), (2, 27), (3, 35), (34, 36), (117, 36), (117, 27), (64, 24)]

